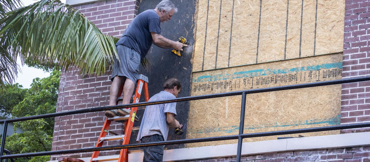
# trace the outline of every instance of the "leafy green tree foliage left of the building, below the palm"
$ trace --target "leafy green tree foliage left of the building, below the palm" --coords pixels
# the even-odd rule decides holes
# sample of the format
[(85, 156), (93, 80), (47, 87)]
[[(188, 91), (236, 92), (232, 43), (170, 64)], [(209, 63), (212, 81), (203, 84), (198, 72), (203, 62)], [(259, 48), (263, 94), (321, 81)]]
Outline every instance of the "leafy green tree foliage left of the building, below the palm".
[[(0, 94), (3, 109), (11, 112), (13, 118), (55, 112), (58, 98), (60, 71), (54, 70), (49, 77), (35, 78), (31, 88), (23, 89), (20, 85), (7, 85), (6, 92)], [(13, 96), (6, 99), (7, 95)], [(17, 103), (18, 102), (18, 103)], [(23, 133), (7, 136), (5, 149), (12, 154), (42, 152), (51, 150), (54, 118), (36, 119), (14, 123), (14, 129), (21, 128)], [(50, 156), (36, 156), (16, 159), (17, 162), (43, 162)]]

